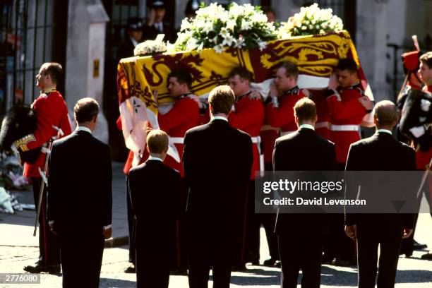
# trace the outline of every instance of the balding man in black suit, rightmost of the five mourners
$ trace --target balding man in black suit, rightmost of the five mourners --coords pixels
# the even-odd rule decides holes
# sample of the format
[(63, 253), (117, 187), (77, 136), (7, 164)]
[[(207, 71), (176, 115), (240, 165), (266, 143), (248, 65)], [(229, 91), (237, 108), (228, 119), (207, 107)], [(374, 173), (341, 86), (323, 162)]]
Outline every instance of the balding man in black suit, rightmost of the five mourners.
[[(376, 125), (376, 133), (350, 146), (346, 172), (414, 171), (416, 169), (414, 150), (392, 137), (392, 128), (397, 124), (396, 105), (388, 100), (378, 102), (374, 109), (373, 121)], [(374, 176), (378, 177), (378, 175)], [(347, 181), (347, 187), (352, 186), (353, 184)], [(381, 192), (385, 193), (382, 186), (383, 183), (380, 184)], [(364, 185), (361, 189), (365, 191), (364, 193), (368, 191), (364, 189)], [(355, 186), (354, 190), (356, 190)], [(345, 225), (347, 236), (357, 241), (359, 287), (375, 287), (378, 244), (380, 245), (378, 288), (394, 287), (400, 243), (402, 238), (412, 234), (413, 215), (347, 213)]]

